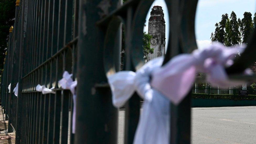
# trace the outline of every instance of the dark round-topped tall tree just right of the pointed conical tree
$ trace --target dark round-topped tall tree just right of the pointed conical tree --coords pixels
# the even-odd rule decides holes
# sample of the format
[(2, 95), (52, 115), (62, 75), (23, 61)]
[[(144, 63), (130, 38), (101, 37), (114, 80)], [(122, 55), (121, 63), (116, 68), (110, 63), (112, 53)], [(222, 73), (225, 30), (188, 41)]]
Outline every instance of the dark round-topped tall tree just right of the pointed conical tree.
[(250, 12), (244, 12), (244, 18), (240, 24), (243, 43), (248, 43), (250, 35), (253, 33), (253, 20)]

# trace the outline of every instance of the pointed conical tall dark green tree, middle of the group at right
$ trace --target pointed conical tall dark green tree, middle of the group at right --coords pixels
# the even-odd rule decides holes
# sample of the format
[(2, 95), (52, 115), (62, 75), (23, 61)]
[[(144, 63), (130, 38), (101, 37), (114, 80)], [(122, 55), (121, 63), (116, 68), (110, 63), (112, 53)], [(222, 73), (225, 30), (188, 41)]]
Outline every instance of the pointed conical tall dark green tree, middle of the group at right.
[(230, 30), (228, 31), (228, 35), (230, 35), (230, 44), (231, 45), (239, 45), (241, 43), (241, 33), (239, 31), (239, 24), (237, 21), (236, 14), (234, 11), (230, 14)]

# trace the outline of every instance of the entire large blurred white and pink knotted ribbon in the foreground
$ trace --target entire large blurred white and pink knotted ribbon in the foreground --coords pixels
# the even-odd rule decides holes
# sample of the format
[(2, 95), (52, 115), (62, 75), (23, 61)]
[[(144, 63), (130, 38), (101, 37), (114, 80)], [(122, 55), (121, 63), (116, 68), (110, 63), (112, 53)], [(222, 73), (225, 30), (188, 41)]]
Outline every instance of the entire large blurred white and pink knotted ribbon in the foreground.
[(155, 58), (136, 73), (121, 71), (109, 76), (114, 106), (122, 106), (135, 91), (144, 99), (134, 143), (169, 143), (169, 100), (179, 104), (189, 93), (197, 72), (205, 73), (213, 85), (241, 83), (228, 79), (225, 66), (230, 66), (232, 58), (243, 50), (213, 43), (204, 50), (178, 55), (163, 67), (163, 58)]

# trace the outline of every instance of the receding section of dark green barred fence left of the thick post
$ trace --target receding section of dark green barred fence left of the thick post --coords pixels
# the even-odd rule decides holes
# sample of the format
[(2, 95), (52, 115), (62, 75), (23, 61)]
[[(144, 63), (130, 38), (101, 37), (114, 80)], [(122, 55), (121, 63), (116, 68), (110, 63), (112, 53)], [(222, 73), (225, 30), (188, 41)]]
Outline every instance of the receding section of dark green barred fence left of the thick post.
[[(16, 2), (14, 29), (2, 73), (1, 101), (16, 143), (73, 143), (72, 95), (57, 85), (64, 71), (76, 78), (78, 0)], [(7, 89), (11, 83), (10, 93)], [(18, 85), (18, 97), (13, 88)], [(55, 87), (56, 94), (35, 90)]]

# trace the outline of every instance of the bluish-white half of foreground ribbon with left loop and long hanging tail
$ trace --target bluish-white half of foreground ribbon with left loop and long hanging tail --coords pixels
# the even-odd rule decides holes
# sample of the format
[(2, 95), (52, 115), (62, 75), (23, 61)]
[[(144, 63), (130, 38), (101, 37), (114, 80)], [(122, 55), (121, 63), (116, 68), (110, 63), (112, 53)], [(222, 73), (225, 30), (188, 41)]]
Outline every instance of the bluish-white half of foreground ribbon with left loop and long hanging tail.
[(112, 101), (116, 107), (122, 106), (137, 91), (144, 99), (143, 112), (136, 130), (135, 144), (167, 144), (169, 142), (169, 100), (150, 86), (150, 75), (160, 68), (163, 58), (149, 61), (136, 73), (120, 71), (108, 77), (112, 90)]

